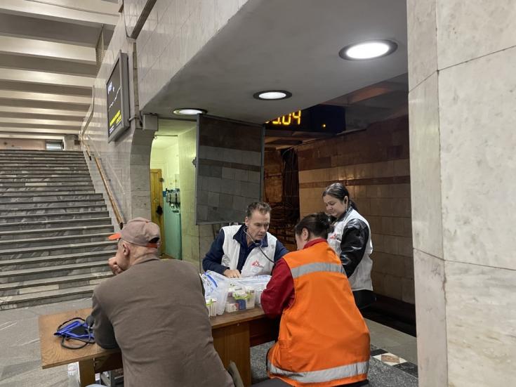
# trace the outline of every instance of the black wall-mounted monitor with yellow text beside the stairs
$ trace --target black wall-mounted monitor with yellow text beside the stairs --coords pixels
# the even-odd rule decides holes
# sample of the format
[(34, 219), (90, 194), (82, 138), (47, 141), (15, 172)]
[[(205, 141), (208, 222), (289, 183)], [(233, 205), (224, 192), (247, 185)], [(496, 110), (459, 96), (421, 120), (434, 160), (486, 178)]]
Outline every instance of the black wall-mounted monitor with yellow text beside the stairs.
[(119, 52), (106, 83), (107, 142), (117, 140), (129, 128), (129, 61)]

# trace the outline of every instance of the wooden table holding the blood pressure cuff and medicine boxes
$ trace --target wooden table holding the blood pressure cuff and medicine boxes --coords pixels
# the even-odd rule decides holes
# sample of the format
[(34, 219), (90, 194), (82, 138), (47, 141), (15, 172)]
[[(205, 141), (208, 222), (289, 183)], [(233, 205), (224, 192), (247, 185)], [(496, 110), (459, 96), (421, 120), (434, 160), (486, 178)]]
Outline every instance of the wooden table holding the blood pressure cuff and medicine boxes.
[[(78, 350), (62, 348), (60, 338), (53, 336), (62, 322), (72, 317), (86, 318), (90, 308), (69, 310), (55, 315), (39, 316), (39, 340), (41, 343), (41, 366), (46, 368), (79, 362), (81, 387), (95, 383), (95, 373), (122, 367), (119, 349), (103, 349), (97, 344), (88, 344)], [(278, 322), (265, 317), (261, 308), (225, 313), (212, 317), (213, 346), (224, 367), (230, 360), (237, 365), (245, 386), (251, 386), (251, 354), (249, 348), (277, 338)], [(265, 359), (263, 360), (265, 362)]]

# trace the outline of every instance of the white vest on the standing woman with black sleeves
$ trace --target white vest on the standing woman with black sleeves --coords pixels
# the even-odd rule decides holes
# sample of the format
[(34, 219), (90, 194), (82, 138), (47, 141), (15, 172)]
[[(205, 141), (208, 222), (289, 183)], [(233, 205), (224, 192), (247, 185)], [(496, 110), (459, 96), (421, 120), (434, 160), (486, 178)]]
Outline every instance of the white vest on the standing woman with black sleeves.
[(369, 239), (367, 240), (366, 251), (362, 261), (358, 264), (353, 274), (348, 278), (352, 291), (357, 290), (373, 290), (373, 282), (371, 281), (371, 268), (373, 268), (373, 261), (371, 260), (371, 253), (373, 252), (373, 243), (371, 242), (371, 228), (367, 223), (364, 216), (360, 215), (358, 211), (352, 209), (350, 213), (345, 216), (341, 221), (333, 223), (334, 230), (328, 235), (328, 244), (340, 257), (340, 242), (342, 242), (342, 232), (346, 224), (352, 219), (359, 219), (366, 223), (369, 228)]

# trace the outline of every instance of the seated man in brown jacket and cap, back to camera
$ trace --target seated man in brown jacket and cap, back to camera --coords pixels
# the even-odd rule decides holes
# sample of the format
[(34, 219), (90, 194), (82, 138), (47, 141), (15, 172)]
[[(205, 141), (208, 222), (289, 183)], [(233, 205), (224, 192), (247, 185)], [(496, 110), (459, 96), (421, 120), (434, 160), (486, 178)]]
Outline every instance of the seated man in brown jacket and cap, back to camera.
[(129, 221), (114, 257), (119, 275), (93, 293), (95, 341), (121, 349), (124, 386), (232, 387), (211, 336), (199, 273), (158, 258), (159, 227)]

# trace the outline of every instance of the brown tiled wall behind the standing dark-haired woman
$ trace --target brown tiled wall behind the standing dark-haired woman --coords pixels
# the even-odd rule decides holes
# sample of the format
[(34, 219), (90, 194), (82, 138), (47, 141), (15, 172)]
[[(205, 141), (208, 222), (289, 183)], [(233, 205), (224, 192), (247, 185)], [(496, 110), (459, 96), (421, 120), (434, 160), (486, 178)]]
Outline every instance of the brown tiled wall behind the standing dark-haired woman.
[(298, 147), (300, 216), (324, 211), (322, 191), (340, 181), (371, 225), (376, 293), (414, 303), (407, 117)]

